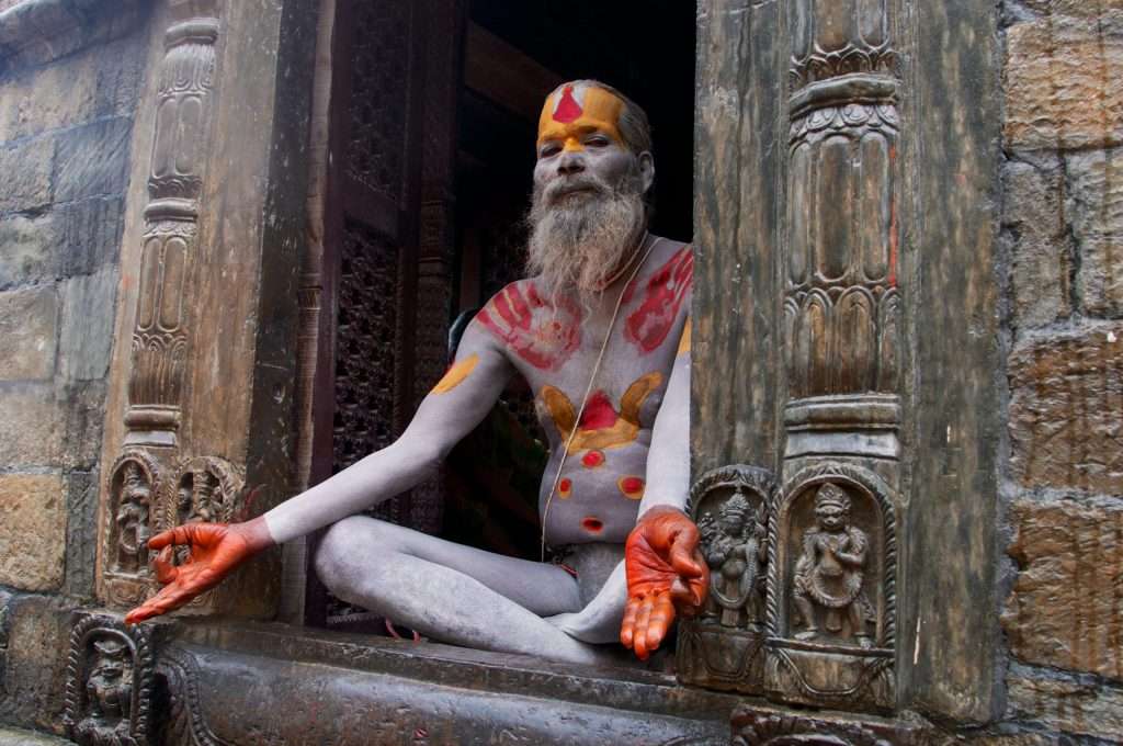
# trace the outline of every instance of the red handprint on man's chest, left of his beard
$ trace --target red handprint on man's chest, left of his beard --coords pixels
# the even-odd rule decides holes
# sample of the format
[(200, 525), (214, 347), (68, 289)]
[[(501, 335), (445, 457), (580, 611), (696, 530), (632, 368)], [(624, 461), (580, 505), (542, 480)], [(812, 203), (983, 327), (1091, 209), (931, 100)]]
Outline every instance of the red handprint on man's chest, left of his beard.
[(581, 309), (572, 299), (547, 302), (532, 282), (513, 282), (476, 316), (519, 357), (556, 371), (581, 345)]

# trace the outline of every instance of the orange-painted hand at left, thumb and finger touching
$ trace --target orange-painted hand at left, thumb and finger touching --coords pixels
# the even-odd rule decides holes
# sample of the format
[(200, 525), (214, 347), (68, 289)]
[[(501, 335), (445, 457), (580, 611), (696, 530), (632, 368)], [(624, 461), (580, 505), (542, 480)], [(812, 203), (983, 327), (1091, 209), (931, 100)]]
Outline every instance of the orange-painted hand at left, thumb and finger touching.
[[(179, 609), (200, 593), (218, 585), (235, 567), (273, 545), (263, 518), (245, 524), (188, 524), (163, 531), (148, 540), (159, 549), (153, 560), (159, 592), (129, 611), (125, 622), (134, 625)], [(172, 547), (188, 546), (182, 565), (172, 564)]]

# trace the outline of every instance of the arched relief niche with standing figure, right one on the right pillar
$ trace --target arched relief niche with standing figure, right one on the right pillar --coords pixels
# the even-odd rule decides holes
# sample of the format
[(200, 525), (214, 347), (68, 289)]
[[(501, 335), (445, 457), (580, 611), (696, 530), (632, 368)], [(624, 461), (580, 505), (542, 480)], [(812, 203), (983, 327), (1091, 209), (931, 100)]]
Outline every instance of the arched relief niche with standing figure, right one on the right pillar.
[(770, 699), (839, 709), (895, 702), (896, 520), (892, 491), (844, 463), (788, 480), (769, 524)]

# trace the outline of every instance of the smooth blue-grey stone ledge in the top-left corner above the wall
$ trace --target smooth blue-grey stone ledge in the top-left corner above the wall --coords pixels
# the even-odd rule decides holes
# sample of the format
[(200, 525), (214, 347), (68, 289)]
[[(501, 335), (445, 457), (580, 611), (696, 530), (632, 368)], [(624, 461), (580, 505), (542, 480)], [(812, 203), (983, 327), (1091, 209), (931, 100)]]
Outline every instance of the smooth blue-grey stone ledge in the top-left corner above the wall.
[(20, 0), (10, 4), (0, 11), (0, 75), (124, 36), (148, 4), (144, 0)]

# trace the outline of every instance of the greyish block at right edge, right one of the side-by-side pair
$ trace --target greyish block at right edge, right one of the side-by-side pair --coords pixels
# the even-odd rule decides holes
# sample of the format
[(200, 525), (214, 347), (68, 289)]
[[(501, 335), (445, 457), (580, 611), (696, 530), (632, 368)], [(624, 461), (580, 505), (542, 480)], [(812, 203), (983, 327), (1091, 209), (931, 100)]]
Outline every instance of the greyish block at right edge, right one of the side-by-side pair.
[(1123, 149), (1077, 153), (1067, 161), (1081, 303), (1092, 316), (1117, 317), (1123, 313)]

